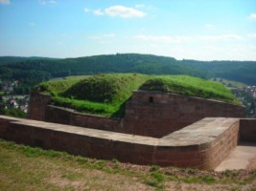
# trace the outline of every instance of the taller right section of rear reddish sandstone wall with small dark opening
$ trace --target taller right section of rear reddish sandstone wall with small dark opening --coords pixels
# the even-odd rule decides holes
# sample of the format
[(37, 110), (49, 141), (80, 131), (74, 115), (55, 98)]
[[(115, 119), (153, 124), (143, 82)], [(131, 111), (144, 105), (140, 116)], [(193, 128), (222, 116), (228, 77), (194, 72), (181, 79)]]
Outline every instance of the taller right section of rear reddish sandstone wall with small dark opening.
[(161, 138), (203, 117), (244, 117), (244, 107), (193, 96), (133, 92), (127, 103), (127, 133)]

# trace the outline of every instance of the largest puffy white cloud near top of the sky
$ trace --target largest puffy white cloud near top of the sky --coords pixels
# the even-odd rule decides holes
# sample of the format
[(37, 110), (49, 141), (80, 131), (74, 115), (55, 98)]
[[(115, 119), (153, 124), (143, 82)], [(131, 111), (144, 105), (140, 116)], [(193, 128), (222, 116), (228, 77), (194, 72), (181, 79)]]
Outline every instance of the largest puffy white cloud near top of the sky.
[(108, 16), (119, 16), (122, 18), (143, 17), (146, 15), (146, 13), (143, 11), (138, 11), (124, 6), (112, 6), (106, 8), (105, 14), (107, 14)]

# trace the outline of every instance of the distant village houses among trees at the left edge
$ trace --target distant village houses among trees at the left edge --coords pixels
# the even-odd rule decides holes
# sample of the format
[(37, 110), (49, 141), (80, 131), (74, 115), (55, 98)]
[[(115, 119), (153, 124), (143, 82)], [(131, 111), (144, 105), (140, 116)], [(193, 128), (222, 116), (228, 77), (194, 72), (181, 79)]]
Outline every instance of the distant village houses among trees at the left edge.
[(15, 95), (14, 87), (18, 85), (18, 81), (2, 81), (0, 80), (0, 111), (3, 109), (19, 109), (24, 113), (28, 113), (30, 96)]

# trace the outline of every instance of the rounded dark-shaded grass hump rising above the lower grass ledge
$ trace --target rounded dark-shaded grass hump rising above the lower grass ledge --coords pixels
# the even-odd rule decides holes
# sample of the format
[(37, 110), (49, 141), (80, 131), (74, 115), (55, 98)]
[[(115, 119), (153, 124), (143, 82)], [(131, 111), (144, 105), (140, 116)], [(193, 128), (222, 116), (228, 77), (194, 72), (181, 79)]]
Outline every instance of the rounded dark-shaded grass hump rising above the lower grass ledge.
[(62, 96), (93, 102), (119, 104), (147, 80), (143, 74), (98, 74), (82, 79)]

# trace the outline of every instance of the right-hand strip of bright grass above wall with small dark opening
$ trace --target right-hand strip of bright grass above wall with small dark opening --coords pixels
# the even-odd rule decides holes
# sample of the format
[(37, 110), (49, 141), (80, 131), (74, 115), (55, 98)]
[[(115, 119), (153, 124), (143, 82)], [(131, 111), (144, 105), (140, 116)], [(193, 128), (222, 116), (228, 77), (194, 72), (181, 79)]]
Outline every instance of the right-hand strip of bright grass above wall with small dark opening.
[(230, 91), (221, 84), (187, 75), (154, 76), (146, 81), (140, 90), (199, 96), (241, 105)]

